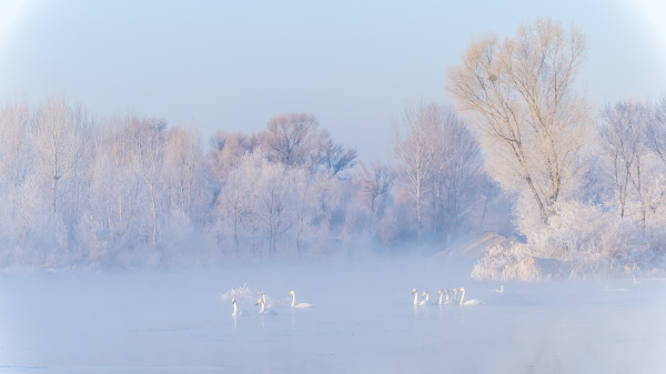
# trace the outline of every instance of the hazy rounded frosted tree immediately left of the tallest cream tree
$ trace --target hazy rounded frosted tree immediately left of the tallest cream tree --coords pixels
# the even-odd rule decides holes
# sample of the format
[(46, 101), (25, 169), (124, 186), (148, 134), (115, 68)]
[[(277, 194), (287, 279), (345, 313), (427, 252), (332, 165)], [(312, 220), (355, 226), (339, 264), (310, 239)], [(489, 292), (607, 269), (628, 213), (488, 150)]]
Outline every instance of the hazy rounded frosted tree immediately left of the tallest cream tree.
[(427, 226), (433, 236), (451, 239), (472, 208), (481, 165), (476, 140), (452, 108), (420, 103), (406, 105), (394, 127), (394, 152), (398, 191), (412, 206), (417, 237)]

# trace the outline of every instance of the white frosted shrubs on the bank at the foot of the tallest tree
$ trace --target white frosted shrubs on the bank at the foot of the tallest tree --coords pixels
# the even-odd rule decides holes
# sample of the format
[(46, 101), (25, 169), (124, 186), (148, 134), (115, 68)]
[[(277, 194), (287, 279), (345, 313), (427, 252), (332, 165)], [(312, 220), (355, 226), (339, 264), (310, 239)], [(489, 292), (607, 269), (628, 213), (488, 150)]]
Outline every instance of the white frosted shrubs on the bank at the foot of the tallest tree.
[[(523, 204), (524, 205), (524, 204)], [(645, 263), (640, 229), (615, 211), (578, 202), (557, 202), (544, 224), (528, 206), (517, 212), (527, 243), (493, 247), (474, 269), (478, 280), (537, 281), (551, 277), (614, 275)], [(628, 267), (627, 267), (628, 266)], [(629, 272), (632, 272), (629, 271)]]

